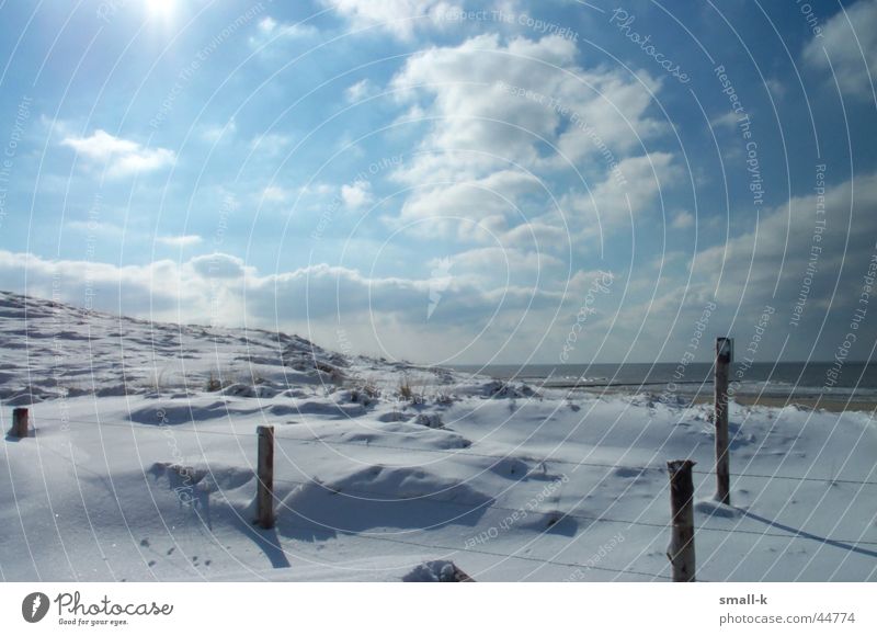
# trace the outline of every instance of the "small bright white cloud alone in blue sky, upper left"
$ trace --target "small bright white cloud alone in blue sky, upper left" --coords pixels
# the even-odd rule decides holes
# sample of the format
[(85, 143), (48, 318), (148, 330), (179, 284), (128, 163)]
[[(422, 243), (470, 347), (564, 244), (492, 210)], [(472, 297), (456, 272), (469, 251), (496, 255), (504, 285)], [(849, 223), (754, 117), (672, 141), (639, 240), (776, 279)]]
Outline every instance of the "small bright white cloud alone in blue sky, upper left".
[(158, 170), (171, 166), (176, 158), (167, 148), (145, 148), (101, 129), (91, 137), (65, 137), (61, 145), (69, 146), (92, 162), (109, 163), (107, 173), (113, 177)]

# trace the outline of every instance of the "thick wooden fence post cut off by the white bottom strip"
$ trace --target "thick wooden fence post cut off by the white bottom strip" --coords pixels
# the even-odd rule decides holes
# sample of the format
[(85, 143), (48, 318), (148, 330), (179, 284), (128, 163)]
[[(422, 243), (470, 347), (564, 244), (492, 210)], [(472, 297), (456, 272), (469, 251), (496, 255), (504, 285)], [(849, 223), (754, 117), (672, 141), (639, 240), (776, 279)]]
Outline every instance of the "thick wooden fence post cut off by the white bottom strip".
[(672, 529), (667, 558), (673, 566), (673, 581), (694, 581), (694, 484), (691, 459), (667, 463), (670, 473)]

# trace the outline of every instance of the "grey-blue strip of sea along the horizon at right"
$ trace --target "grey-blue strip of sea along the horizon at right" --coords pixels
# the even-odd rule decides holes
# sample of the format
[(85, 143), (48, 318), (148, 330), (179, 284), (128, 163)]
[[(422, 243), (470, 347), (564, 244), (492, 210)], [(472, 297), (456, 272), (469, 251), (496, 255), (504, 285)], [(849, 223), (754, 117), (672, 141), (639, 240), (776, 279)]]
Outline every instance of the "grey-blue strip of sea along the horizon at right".
[[(528, 364), (458, 366), (499, 379), (516, 379), (546, 387), (662, 393), (693, 396), (713, 391), (713, 364)], [(733, 363), (732, 390), (741, 396), (877, 400), (877, 362)]]

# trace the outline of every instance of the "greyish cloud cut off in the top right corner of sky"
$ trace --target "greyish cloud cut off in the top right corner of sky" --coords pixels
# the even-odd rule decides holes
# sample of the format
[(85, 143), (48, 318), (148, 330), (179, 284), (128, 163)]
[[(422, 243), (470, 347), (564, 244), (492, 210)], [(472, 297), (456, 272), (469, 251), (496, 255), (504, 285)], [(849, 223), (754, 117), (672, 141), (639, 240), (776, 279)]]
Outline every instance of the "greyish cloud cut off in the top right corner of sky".
[[(804, 60), (812, 68), (831, 72), (841, 90), (873, 99), (877, 78), (877, 2), (859, 0), (835, 13), (804, 48)], [(833, 84), (833, 82), (832, 82)]]

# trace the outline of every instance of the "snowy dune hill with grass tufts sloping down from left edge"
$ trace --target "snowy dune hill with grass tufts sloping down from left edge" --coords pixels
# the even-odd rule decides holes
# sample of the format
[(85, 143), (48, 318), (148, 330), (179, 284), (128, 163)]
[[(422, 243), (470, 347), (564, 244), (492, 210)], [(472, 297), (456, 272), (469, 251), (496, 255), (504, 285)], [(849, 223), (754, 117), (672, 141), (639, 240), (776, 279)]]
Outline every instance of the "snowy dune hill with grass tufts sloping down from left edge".
[(0, 399), (8, 405), (163, 389), (234, 394), (244, 390), (240, 385), (258, 385), (266, 396), (397, 372), (452, 382), (442, 370), (345, 356), (297, 336), (150, 322), (7, 292), (0, 292)]

